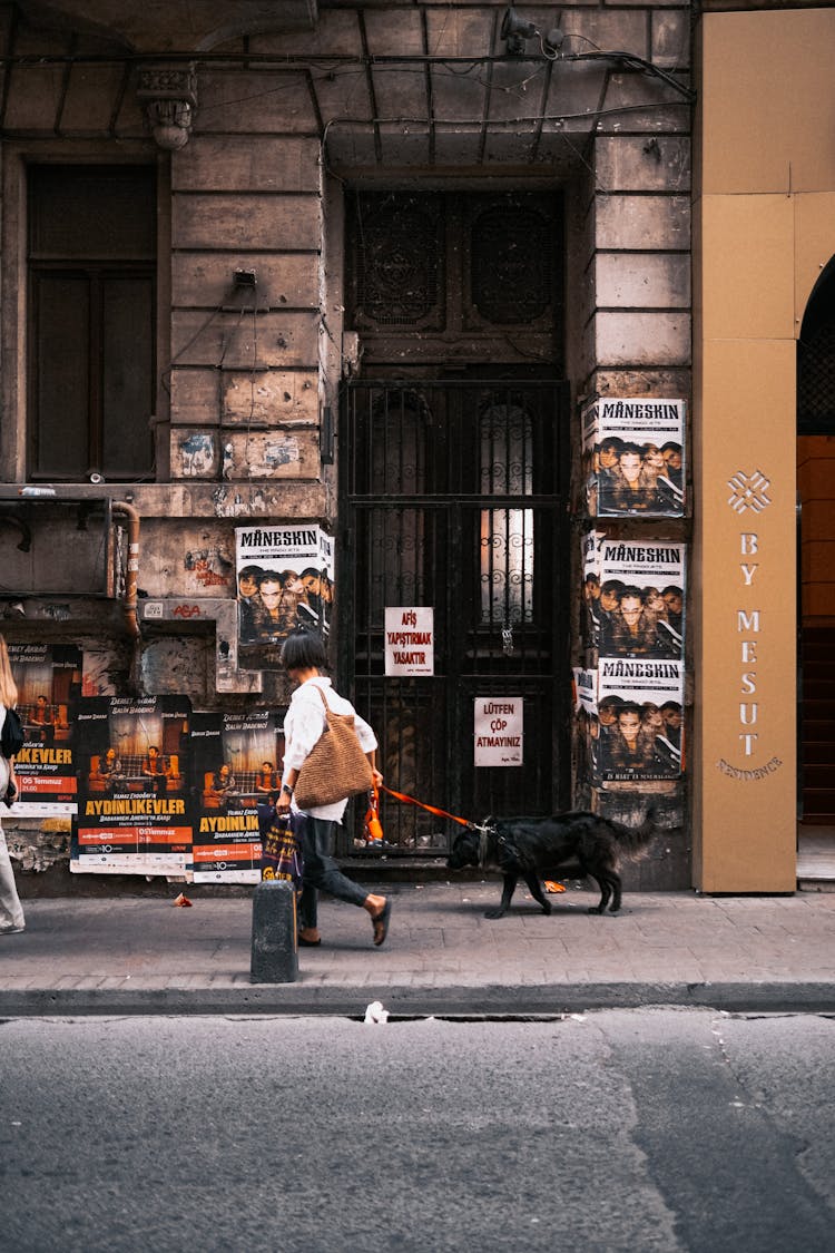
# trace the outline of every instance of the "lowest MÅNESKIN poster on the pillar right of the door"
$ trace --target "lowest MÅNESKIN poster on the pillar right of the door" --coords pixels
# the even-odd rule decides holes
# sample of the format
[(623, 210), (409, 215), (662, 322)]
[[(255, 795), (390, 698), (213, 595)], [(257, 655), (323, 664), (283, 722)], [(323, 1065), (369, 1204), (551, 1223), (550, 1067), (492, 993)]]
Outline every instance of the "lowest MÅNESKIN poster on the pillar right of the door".
[[(623, 669), (630, 673), (623, 674)], [(592, 783), (682, 774), (681, 662), (616, 660), (601, 670), (576, 670), (575, 693), (577, 729)]]

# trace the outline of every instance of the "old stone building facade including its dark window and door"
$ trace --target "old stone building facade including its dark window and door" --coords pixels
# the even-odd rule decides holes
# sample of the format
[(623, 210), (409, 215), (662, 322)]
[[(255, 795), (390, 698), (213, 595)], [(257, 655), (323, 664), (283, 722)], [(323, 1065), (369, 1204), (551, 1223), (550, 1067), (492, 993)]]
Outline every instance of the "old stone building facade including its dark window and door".
[[(691, 20), (0, 5), (6, 638), (78, 647), (96, 690), (280, 712), (280, 672), (239, 655), (235, 536), (319, 526), (334, 665), (393, 787), (474, 818), (633, 821), (655, 793), (635, 882), (689, 886), (687, 766), (598, 783), (572, 672), (595, 665), (582, 403), (681, 401), (691, 437)], [(690, 526), (689, 504), (608, 524), (685, 551)], [(432, 679), (386, 680), (392, 604), (434, 605)], [(682, 675), (690, 707), (690, 645)], [(525, 764), (479, 772), (473, 699), (507, 695)], [(396, 851), (443, 852), (388, 813)], [(6, 826), (25, 867), (64, 865), (68, 818)]]

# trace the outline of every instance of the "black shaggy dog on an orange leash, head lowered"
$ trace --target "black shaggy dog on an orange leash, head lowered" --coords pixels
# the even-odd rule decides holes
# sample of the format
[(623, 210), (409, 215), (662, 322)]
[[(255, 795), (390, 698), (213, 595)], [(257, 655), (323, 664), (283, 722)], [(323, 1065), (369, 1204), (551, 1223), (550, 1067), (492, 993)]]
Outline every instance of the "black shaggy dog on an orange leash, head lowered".
[(643, 822), (635, 829), (581, 811), (558, 813), (553, 818), (488, 821), (481, 831), (466, 831), (456, 837), (447, 866), (449, 870), (494, 866), (502, 871), (502, 900), (497, 910), (486, 912), (487, 918), (501, 918), (507, 913), (520, 878), (525, 880), (542, 911), (551, 913), (551, 902), (542, 891), (541, 878), (545, 872), (560, 867), (565, 878), (588, 876), (596, 880), (601, 892), (600, 905), (590, 913), (605, 913), (606, 906), (611, 913), (617, 913), (621, 907), (618, 865), (625, 857), (637, 861), (646, 855), (655, 833), (653, 816), (653, 807), (650, 807)]

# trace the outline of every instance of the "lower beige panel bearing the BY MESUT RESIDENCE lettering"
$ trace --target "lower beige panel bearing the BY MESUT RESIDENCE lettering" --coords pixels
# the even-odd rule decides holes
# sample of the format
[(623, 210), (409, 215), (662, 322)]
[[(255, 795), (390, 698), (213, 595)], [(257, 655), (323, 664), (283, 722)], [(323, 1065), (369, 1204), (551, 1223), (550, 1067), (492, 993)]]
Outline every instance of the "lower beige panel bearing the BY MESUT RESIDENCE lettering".
[(714, 340), (700, 378), (696, 886), (786, 892), (795, 887), (795, 441), (794, 425), (776, 419), (794, 406), (794, 342)]

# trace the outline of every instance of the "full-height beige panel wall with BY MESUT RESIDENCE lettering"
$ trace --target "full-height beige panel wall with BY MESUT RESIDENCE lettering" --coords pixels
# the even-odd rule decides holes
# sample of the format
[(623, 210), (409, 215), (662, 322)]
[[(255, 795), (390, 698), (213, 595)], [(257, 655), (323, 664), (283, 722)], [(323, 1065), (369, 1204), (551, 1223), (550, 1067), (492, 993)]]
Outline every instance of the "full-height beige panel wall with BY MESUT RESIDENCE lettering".
[(700, 28), (695, 886), (795, 888), (796, 336), (835, 253), (835, 11)]

